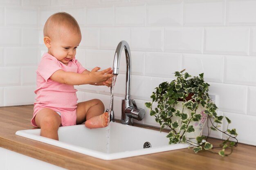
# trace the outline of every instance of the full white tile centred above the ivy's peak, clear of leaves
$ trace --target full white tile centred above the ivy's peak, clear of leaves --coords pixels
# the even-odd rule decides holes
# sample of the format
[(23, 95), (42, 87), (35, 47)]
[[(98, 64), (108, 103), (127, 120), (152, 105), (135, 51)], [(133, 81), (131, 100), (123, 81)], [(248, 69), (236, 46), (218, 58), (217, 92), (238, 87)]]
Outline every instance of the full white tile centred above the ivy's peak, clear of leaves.
[(166, 28), (164, 50), (169, 52), (202, 53), (202, 28)]

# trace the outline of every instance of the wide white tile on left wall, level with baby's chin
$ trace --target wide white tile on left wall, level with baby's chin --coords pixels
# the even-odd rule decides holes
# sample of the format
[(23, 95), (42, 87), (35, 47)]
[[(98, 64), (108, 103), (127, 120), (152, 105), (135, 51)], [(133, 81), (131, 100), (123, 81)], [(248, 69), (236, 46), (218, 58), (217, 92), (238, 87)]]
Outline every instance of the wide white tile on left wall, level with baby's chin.
[(6, 66), (36, 66), (38, 63), (36, 47), (6, 47), (4, 56)]

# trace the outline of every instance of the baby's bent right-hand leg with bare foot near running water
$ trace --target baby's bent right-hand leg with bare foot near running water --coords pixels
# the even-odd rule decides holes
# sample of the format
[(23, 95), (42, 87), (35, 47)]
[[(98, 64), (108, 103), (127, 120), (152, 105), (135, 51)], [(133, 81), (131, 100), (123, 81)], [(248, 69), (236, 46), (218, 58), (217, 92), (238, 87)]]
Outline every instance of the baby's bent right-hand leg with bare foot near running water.
[(108, 126), (108, 113), (104, 113), (104, 105), (99, 99), (79, 103), (76, 108), (76, 116), (76, 124), (85, 121), (87, 128)]

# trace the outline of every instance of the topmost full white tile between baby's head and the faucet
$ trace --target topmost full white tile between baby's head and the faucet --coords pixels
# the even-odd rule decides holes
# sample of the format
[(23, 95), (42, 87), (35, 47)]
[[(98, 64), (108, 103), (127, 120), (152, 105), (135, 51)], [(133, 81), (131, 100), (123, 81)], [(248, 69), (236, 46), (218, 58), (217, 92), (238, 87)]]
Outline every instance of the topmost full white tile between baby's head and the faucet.
[(114, 7), (112, 5), (88, 6), (86, 26), (113, 26)]

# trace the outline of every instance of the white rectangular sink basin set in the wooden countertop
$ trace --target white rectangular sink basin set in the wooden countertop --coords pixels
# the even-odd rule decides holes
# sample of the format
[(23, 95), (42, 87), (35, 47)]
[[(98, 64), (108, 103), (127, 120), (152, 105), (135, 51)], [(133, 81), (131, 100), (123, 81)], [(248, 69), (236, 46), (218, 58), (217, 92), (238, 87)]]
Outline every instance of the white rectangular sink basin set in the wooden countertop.
[[(84, 124), (64, 126), (58, 130), (59, 141), (40, 136), (40, 129), (20, 130), (16, 135), (79, 152), (104, 160), (187, 148), (171, 144), (166, 132), (110, 122), (109, 127), (89, 129)], [(144, 148), (144, 146), (146, 148)]]

